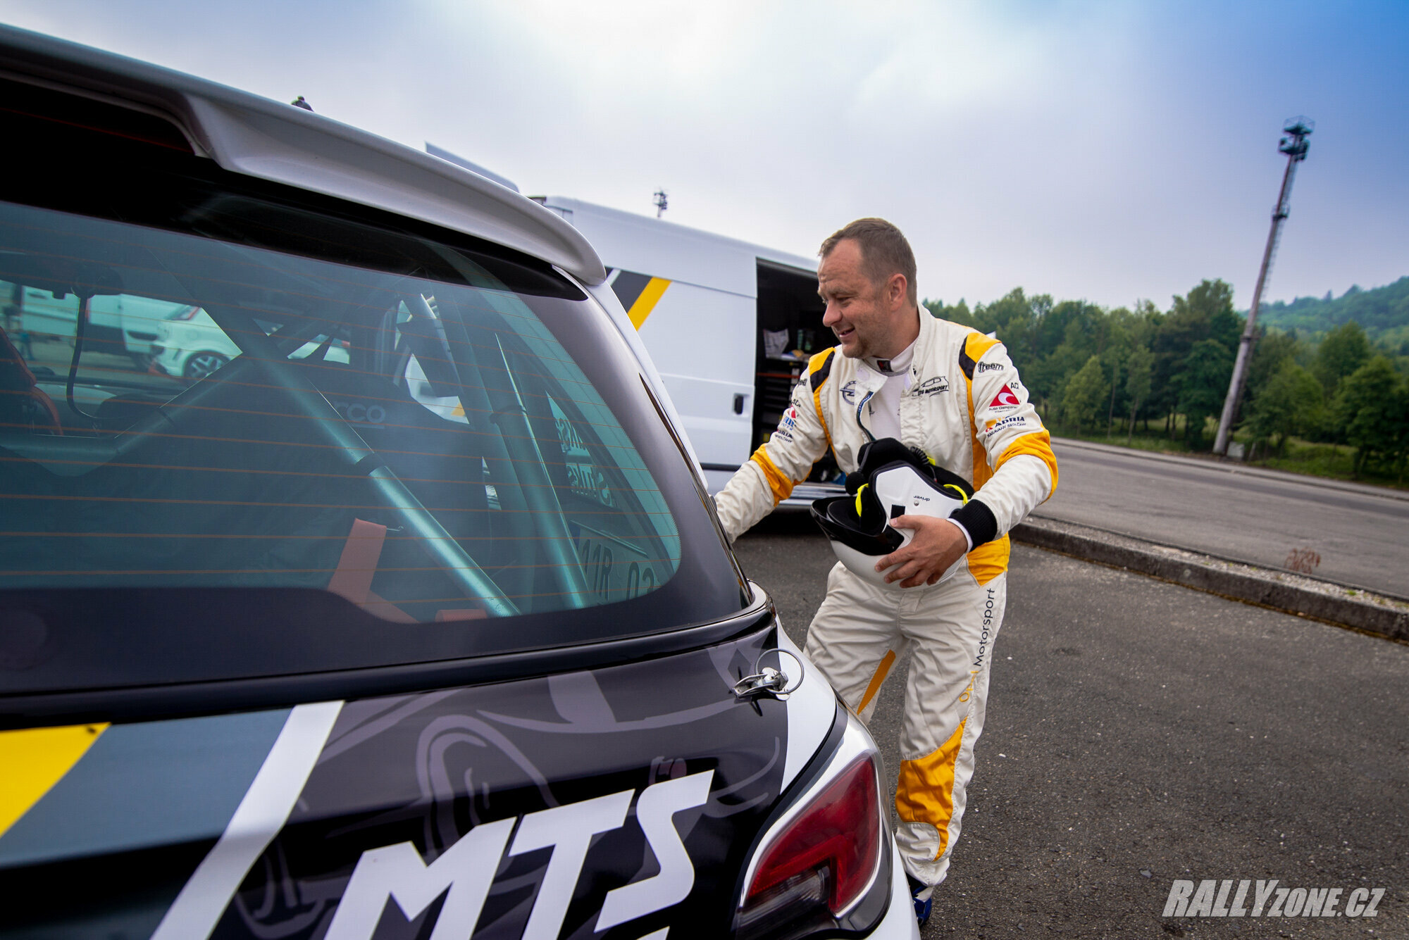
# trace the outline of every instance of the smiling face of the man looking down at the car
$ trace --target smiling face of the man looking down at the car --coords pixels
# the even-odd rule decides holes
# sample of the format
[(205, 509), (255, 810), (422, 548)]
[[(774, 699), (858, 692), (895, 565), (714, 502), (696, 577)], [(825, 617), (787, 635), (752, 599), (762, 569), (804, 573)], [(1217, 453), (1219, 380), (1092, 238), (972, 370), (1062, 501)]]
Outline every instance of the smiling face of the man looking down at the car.
[[(841, 355), (848, 359), (888, 357), (905, 349), (895, 345), (896, 322), (903, 307), (903, 276), (899, 297), (892, 283), (872, 283), (861, 258), (861, 245), (852, 238), (837, 242), (817, 266), (817, 294), (827, 304), (821, 322), (837, 335)], [(900, 301), (899, 304), (896, 301)]]

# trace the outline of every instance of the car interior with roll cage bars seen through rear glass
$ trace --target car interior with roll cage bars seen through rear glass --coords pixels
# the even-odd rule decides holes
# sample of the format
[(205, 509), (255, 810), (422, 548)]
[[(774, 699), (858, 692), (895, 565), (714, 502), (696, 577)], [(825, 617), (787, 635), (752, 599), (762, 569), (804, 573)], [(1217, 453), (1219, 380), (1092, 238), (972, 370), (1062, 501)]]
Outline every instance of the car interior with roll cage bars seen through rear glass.
[[(204, 228), (259, 208), (217, 198)], [(0, 218), (0, 279), (77, 298), (72, 335), (13, 307), (0, 332), (0, 498), (25, 536), (0, 542), (7, 587), (321, 587), (434, 622), (671, 577), (678, 538), (628, 436), (524, 296), (468, 258), (414, 245), (440, 252), (433, 280), (28, 205)], [(86, 341), (111, 296), (199, 308), (238, 355), (139, 371)]]

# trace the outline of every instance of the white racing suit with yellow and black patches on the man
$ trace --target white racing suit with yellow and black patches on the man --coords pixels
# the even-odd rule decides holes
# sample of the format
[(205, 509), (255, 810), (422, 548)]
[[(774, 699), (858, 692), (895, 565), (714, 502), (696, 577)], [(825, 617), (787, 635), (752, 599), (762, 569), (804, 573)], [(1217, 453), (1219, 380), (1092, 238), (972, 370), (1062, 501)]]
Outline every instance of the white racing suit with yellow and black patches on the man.
[[(890, 666), (910, 653), (900, 730), (896, 839), (906, 870), (937, 885), (960, 834), (974, 743), (983, 730), (993, 640), (1007, 595), (1007, 531), (1057, 485), (1051, 440), (1002, 343), (920, 314), (900, 397), (900, 440), (974, 484), (955, 514), (974, 549), (934, 587), (881, 588), (840, 563), (807, 633), (807, 656), (869, 719)], [(768, 515), (830, 447), (844, 473), (871, 440), (885, 376), (837, 349), (812, 357), (778, 431), (716, 497), (730, 539)]]

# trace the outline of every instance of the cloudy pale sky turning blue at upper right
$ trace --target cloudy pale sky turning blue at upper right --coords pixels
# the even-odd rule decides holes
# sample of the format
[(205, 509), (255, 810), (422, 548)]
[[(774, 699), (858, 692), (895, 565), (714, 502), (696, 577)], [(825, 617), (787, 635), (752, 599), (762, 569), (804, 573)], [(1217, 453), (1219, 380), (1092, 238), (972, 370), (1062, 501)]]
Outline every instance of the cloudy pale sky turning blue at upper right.
[(528, 194), (813, 258), (864, 215), (921, 297), (1264, 303), (1409, 274), (1403, 0), (0, 0), (0, 20), (290, 101)]

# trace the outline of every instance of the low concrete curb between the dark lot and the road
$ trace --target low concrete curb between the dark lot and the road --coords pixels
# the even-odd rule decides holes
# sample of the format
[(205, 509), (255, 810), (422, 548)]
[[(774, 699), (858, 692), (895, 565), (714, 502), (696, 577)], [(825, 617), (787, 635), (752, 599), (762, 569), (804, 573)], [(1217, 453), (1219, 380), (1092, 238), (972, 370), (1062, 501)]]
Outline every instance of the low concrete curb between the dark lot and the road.
[(1014, 542), (1085, 561), (1127, 569), (1198, 591), (1409, 642), (1409, 599), (1405, 598), (1371, 594), (1289, 571), (1216, 559), (1055, 519), (1030, 518), (1009, 535)]

